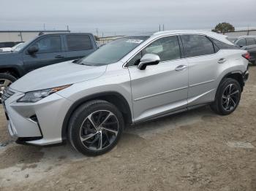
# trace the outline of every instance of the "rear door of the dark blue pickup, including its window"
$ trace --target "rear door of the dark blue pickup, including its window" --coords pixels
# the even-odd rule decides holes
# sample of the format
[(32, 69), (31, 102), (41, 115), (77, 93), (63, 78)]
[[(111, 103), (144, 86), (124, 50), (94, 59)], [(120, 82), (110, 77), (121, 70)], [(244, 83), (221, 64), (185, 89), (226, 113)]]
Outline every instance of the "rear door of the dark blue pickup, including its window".
[(66, 34), (65, 51), (66, 60), (74, 60), (91, 54), (96, 49), (93, 36), (89, 34)]

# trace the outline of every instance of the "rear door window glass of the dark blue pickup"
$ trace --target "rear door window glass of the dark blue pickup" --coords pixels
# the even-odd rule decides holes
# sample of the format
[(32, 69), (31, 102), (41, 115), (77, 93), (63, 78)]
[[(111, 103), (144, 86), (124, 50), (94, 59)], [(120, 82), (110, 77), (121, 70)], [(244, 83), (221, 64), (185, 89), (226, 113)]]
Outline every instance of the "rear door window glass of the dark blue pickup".
[(67, 50), (91, 50), (92, 44), (89, 35), (67, 35)]

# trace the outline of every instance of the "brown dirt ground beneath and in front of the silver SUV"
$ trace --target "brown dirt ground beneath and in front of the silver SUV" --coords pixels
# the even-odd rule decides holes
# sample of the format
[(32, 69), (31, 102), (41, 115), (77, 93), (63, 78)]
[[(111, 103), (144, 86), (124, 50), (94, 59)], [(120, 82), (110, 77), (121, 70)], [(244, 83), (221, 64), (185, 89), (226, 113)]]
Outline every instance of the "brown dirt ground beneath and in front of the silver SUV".
[(256, 190), (256, 67), (236, 112), (207, 107), (125, 130), (85, 157), (69, 145), (15, 144), (0, 112), (0, 190)]

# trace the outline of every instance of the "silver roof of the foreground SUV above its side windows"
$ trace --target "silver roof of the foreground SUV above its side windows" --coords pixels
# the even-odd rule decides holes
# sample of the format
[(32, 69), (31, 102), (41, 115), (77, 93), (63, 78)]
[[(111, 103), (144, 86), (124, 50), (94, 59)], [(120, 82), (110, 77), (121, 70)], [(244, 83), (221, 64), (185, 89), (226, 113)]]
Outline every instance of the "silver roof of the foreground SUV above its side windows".
[(232, 42), (227, 40), (227, 36), (222, 34), (217, 34), (211, 31), (202, 31), (202, 30), (159, 31), (157, 33), (154, 33), (152, 36), (162, 36), (162, 35), (169, 35), (169, 34), (203, 34), (206, 36), (210, 36), (214, 39), (218, 39), (219, 41), (225, 42), (226, 44), (233, 45)]

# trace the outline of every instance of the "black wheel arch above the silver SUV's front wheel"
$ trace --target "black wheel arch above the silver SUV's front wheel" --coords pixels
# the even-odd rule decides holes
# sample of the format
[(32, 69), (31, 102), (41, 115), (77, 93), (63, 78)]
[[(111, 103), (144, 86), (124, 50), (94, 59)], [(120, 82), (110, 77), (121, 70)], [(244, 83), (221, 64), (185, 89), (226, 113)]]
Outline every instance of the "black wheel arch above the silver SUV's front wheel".
[(115, 105), (123, 114), (125, 124), (132, 124), (132, 110), (123, 95), (117, 92), (112, 92), (112, 91), (104, 92), (104, 93), (95, 93), (95, 94), (80, 98), (78, 101), (75, 101), (75, 103), (72, 104), (72, 106), (70, 106), (67, 114), (64, 117), (64, 121), (62, 124), (62, 129), (61, 129), (62, 141), (67, 140), (69, 119), (72, 116), (72, 114), (75, 112), (76, 109), (78, 109), (78, 107), (81, 104), (85, 104), (86, 102), (92, 101), (92, 100), (104, 100), (104, 101), (110, 102), (111, 104)]

